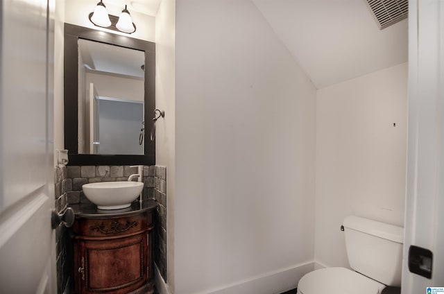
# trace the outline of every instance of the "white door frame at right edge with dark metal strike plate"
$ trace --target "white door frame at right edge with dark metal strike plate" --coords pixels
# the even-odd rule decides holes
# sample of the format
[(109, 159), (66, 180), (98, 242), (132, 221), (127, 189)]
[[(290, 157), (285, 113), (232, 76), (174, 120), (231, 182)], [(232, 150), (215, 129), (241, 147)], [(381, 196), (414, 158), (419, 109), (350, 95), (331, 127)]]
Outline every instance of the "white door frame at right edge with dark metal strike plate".
[(408, 137), (402, 293), (422, 294), (444, 287), (444, 0), (409, 1)]

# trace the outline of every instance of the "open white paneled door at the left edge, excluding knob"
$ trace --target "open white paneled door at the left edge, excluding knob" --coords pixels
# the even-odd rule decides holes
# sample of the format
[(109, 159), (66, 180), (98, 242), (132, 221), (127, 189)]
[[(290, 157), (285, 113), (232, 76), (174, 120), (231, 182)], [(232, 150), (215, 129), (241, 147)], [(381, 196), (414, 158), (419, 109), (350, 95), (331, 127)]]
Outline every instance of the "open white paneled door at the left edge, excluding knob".
[(56, 293), (53, 2), (0, 5), (0, 293)]

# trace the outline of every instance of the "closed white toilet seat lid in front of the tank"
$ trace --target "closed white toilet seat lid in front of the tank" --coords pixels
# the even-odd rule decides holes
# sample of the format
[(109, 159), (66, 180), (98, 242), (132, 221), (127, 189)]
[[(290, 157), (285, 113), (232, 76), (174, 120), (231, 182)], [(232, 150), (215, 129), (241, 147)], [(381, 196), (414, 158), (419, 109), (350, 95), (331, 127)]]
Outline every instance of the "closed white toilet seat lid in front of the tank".
[(298, 294), (379, 294), (384, 284), (348, 268), (323, 268), (302, 277)]

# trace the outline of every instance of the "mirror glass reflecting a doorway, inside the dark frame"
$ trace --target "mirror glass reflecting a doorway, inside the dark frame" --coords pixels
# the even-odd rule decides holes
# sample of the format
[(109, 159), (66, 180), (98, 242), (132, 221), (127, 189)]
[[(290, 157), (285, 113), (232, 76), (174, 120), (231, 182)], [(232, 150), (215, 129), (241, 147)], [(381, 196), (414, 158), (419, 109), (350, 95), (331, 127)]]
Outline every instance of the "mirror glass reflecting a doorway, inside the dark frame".
[(144, 51), (78, 39), (78, 153), (144, 155)]

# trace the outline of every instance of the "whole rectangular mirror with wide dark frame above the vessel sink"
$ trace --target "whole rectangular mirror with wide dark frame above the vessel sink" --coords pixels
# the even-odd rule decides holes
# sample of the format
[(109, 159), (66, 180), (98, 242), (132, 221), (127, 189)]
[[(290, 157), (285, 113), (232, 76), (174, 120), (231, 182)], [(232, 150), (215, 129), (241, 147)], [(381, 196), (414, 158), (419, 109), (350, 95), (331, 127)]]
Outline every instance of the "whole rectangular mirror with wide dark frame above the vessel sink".
[[(119, 60), (112, 55), (115, 53)], [(121, 71), (109, 73), (104, 68), (112, 66), (100, 67), (94, 55), (102, 61), (117, 60), (119, 64), (114, 67)], [(155, 164), (155, 141), (146, 136), (155, 110), (155, 43), (65, 24), (64, 60), (65, 148), (69, 165)], [(137, 64), (137, 68), (133, 65), (131, 69), (130, 63)], [(104, 78), (112, 80), (103, 82)], [(121, 88), (125, 83), (133, 90), (139, 88), (139, 92), (124, 92)], [(101, 119), (99, 110), (103, 113)], [(117, 114), (121, 117), (117, 118)], [(131, 131), (123, 129), (126, 125)], [(117, 130), (120, 133), (112, 134)], [(123, 139), (123, 134), (130, 139)]]

